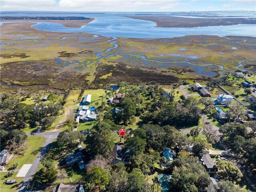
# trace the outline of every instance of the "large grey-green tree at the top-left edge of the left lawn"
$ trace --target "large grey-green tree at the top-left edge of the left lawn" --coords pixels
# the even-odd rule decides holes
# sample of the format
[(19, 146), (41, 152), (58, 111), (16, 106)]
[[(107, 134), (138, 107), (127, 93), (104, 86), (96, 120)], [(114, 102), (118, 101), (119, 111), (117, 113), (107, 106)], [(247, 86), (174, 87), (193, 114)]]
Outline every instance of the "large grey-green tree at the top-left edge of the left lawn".
[(10, 151), (16, 150), (20, 152), (20, 150), (24, 147), (28, 136), (22, 130), (14, 129), (7, 136), (8, 148)]

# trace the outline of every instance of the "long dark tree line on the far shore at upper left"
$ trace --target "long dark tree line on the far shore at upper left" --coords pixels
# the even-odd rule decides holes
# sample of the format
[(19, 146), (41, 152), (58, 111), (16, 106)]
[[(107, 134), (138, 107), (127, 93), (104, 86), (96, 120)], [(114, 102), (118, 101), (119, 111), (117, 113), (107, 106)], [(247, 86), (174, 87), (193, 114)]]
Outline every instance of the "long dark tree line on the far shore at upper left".
[(76, 16), (68, 16), (68, 17), (52, 17), (52, 16), (38, 16), (38, 17), (28, 17), (28, 16), (1, 16), (1, 20), (23, 20), (23, 19), (36, 19), (36, 20), (87, 20), (90, 19), (88, 17), (76, 17)]

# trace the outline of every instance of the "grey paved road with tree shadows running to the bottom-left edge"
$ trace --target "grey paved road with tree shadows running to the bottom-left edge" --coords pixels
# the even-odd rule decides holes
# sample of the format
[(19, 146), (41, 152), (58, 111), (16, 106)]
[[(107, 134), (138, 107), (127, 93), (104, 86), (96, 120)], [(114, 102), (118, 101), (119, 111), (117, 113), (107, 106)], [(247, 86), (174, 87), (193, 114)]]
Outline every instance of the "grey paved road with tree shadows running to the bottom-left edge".
[(33, 162), (32, 166), (28, 170), (28, 173), (22, 180), (20, 187), (18, 189), (18, 192), (24, 192), (26, 190), (26, 187), (28, 186), (32, 176), (36, 173), (36, 170), (40, 164), (40, 160), (43, 158), (43, 156), (46, 154), (48, 148), (50, 147), (50, 144), (53, 142), (55, 138), (57, 138), (59, 132), (41, 132), (41, 133), (27, 133), (28, 136), (44, 136), (46, 138), (46, 141), (44, 142), (40, 153), (36, 157), (36, 160)]

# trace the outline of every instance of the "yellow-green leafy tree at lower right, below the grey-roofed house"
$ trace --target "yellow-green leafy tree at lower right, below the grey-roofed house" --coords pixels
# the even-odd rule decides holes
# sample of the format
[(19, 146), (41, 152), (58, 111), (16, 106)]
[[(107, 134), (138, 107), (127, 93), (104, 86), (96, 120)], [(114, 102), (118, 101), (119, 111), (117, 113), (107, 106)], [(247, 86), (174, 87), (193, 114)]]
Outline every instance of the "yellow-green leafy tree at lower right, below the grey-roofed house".
[(231, 161), (217, 161), (218, 176), (223, 180), (239, 182), (243, 176), (242, 172)]

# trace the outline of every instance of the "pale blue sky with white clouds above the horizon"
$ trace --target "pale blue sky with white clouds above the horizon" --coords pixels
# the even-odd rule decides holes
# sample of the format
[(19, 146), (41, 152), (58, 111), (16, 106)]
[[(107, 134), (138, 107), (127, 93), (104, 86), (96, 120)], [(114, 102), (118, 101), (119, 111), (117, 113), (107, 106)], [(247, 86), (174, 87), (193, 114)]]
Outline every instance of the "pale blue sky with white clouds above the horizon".
[(1, 11), (255, 11), (256, 0), (0, 0)]

